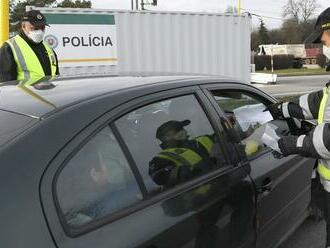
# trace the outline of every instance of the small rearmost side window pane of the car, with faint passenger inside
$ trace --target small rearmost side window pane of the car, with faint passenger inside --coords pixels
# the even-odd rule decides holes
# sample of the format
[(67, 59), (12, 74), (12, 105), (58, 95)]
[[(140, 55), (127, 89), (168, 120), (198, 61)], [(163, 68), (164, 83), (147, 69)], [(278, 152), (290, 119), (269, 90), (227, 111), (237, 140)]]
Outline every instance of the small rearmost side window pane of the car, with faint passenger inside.
[(142, 199), (129, 164), (109, 127), (65, 165), (57, 198), (66, 222), (79, 227)]

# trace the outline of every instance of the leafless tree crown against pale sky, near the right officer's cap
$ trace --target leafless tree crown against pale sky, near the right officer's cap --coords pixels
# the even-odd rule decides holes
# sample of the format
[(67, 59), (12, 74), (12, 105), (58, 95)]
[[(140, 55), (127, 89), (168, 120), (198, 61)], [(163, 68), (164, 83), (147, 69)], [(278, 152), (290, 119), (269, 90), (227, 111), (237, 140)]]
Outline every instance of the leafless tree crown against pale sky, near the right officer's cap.
[(297, 22), (307, 21), (315, 14), (319, 8), (317, 0), (288, 0), (283, 7), (283, 17), (289, 17)]

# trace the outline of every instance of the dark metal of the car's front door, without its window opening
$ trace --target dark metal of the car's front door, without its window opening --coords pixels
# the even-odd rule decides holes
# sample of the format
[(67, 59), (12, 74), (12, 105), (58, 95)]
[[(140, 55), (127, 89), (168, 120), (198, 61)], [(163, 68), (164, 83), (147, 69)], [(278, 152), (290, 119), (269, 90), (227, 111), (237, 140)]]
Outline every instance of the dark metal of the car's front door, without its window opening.
[[(269, 104), (274, 99), (250, 86), (221, 84), (203, 86), (206, 90), (239, 91), (256, 96), (260, 102)], [(208, 94), (208, 93), (206, 93)], [(219, 108), (212, 96), (215, 108)], [(221, 112), (223, 118), (226, 118)], [(274, 121), (275, 122), (275, 121)], [(281, 131), (289, 133), (286, 121), (276, 121)], [(274, 123), (275, 124), (275, 123)], [(307, 215), (311, 198), (311, 176), (315, 159), (298, 155), (279, 157), (270, 149), (249, 160), (250, 176), (255, 183), (257, 197), (257, 247), (273, 247), (301, 223)], [(265, 187), (266, 186), (266, 187)], [(267, 188), (265, 190), (265, 188)]]

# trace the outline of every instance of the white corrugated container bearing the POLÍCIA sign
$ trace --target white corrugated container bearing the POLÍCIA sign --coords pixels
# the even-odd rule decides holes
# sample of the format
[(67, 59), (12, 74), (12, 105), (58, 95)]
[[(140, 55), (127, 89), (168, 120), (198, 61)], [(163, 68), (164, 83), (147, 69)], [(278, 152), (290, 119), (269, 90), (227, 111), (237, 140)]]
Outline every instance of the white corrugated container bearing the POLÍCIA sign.
[(36, 8), (62, 75), (210, 74), (250, 82), (248, 14)]

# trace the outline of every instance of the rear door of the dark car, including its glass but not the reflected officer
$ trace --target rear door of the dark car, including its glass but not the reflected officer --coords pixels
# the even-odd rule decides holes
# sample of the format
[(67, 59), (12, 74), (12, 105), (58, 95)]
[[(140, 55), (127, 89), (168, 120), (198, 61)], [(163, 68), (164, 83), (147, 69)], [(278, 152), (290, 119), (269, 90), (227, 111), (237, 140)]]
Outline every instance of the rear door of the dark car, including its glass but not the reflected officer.
[[(170, 188), (156, 184), (149, 175), (149, 162), (161, 151), (155, 132), (186, 118), (191, 138), (214, 137), (214, 167)], [(185, 87), (137, 98), (81, 132), (42, 182), (57, 246), (254, 247), (249, 165), (237, 166), (228, 155), (217, 119), (199, 87)], [(109, 187), (101, 190), (103, 184)]]

